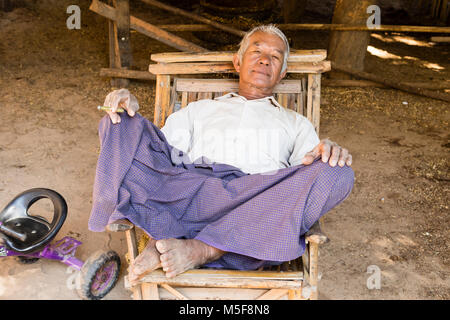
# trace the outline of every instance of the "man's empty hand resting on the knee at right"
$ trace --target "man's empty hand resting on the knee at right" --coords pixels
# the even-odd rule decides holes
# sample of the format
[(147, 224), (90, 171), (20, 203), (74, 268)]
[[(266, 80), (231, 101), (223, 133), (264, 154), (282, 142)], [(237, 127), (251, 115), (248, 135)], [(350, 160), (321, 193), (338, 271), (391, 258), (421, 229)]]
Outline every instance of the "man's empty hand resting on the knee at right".
[(352, 165), (352, 155), (348, 153), (348, 150), (328, 139), (321, 140), (313, 150), (305, 154), (302, 164), (311, 164), (319, 157), (322, 157), (323, 162), (329, 161), (332, 167), (336, 166), (336, 164), (340, 167)]

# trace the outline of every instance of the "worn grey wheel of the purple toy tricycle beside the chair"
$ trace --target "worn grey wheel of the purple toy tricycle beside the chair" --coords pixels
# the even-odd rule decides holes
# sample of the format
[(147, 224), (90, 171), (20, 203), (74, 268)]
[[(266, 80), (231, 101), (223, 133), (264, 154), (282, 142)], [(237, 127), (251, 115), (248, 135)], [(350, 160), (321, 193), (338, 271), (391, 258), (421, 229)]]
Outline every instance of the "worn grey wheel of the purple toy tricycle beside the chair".
[(120, 258), (115, 251), (97, 251), (80, 270), (78, 294), (85, 300), (99, 300), (111, 291), (119, 279)]

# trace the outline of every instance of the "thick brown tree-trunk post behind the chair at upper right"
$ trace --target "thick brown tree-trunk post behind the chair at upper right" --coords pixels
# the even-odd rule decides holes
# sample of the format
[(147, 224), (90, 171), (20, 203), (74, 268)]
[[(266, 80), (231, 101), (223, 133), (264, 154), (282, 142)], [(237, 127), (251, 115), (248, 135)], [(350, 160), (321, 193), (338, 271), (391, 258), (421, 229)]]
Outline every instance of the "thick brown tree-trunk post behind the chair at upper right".
[[(367, 7), (374, 0), (337, 0), (333, 14), (333, 24), (366, 25)], [(369, 44), (368, 31), (332, 31), (328, 48), (328, 59), (336, 64), (364, 70), (364, 58)], [(351, 79), (348, 74), (331, 71), (332, 79)]]

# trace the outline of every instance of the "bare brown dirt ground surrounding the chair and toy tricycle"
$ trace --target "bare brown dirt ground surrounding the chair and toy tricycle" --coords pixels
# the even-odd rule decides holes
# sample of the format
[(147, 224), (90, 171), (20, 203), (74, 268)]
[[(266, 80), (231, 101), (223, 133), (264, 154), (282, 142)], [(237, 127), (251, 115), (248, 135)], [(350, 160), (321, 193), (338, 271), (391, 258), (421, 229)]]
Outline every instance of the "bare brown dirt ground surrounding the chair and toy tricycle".
[[(73, 3), (81, 7), (80, 30), (66, 28)], [(57, 238), (82, 241), (82, 260), (99, 249), (123, 257), (126, 249), (123, 234), (87, 229), (103, 116), (96, 106), (112, 90), (99, 76), (108, 65), (107, 23), (89, 3), (30, 1), (0, 12), (0, 209), (29, 188), (58, 191), (69, 213)], [(180, 22), (164, 11), (133, 10), (155, 24)], [(327, 33), (288, 35), (296, 49), (327, 48)], [(131, 41), (140, 70), (151, 53), (175, 51), (135, 32)], [(368, 72), (397, 81), (449, 79), (449, 46), (430, 43), (429, 35), (376, 34), (370, 46)], [(129, 87), (150, 119), (153, 87)], [(331, 241), (321, 248), (319, 298), (449, 299), (449, 104), (382, 88), (323, 87), (322, 97), (320, 136), (351, 151), (356, 180), (350, 197), (324, 218)], [(119, 283), (105, 299), (131, 299), (122, 261)], [(367, 287), (373, 265), (381, 270), (380, 289)], [(71, 275), (54, 261), (2, 258), (0, 299), (79, 299)]]

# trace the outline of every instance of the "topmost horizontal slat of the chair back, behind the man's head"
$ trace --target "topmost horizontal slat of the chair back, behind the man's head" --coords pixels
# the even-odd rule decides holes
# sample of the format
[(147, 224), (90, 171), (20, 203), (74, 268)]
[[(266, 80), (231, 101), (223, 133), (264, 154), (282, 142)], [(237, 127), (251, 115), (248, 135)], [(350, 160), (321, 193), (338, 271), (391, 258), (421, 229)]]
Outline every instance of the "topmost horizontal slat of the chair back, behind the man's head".
[[(232, 62), (233, 51), (211, 51), (203, 53), (166, 52), (154, 53), (150, 59), (155, 62)], [(327, 51), (319, 50), (291, 50), (288, 62), (319, 62), (325, 60)]]

